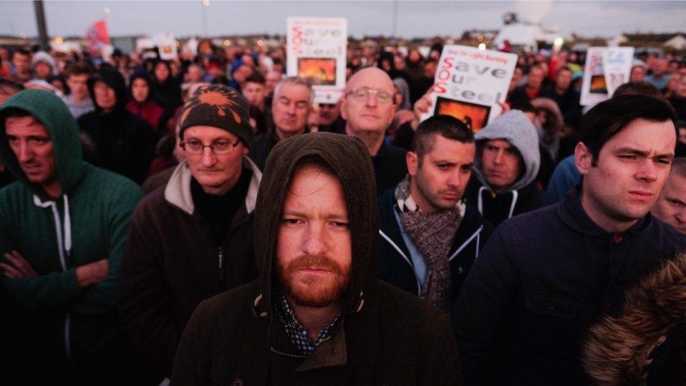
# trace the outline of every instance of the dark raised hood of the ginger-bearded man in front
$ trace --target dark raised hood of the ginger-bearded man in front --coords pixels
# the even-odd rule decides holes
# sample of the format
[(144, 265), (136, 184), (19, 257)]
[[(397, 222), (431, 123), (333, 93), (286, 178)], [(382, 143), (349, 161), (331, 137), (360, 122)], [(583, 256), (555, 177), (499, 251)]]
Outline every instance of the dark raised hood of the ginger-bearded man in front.
[(261, 297), (257, 314), (271, 312), (271, 295), (276, 278), (276, 237), (292, 176), (306, 160), (321, 160), (340, 179), (346, 198), (352, 239), (350, 285), (345, 295), (344, 314), (363, 305), (364, 293), (376, 281), (378, 209), (372, 159), (362, 141), (333, 133), (302, 134), (279, 141), (266, 160), (257, 193), (254, 217), (255, 256), (261, 264)]

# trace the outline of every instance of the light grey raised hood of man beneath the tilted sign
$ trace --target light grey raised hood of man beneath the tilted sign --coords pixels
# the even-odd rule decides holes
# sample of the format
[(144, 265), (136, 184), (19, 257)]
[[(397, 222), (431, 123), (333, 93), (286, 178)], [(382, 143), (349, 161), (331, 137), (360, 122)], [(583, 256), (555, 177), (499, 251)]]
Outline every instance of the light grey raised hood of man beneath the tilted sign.
[(538, 168), (541, 167), (541, 151), (538, 150), (538, 134), (536, 127), (524, 112), (520, 110), (510, 110), (500, 117), (496, 118), (491, 124), (481, 129), (477, 134), (474, 134), (474, 140), (477, 142), (477, 156), (474, 158), (474, 174), (477, 179), (481, 181), (488, 189), (493, 190), (488, 181), (481, 172), (481, 150), (484, 148), (484, 143), (491, 139), (505, 139), (512, 143), (512, 146), (519, 150), (524, 160), (524, 173), (514, 184), (510, 186), (507, 191), (516, 191), (531, 184), (533, 179), (536, 179)]

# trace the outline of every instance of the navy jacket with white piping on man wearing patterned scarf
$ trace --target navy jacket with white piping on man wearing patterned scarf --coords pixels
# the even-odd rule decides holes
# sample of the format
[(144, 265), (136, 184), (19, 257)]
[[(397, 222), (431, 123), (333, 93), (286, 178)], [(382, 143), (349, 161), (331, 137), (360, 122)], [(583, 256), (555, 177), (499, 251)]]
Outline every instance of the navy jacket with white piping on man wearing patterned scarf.
[[(395, 188), (391, 188), (379, 197), (379, 278), (419, 296), (421, 286), (394, 214), (398, 210), (394, 193)], [(477, 210), (467, 206), (465, 218), (460, 222), (448, 252), (451, 262), (451, 303), (457, 299), (467, 273), (491, 233), (493, 226)]]

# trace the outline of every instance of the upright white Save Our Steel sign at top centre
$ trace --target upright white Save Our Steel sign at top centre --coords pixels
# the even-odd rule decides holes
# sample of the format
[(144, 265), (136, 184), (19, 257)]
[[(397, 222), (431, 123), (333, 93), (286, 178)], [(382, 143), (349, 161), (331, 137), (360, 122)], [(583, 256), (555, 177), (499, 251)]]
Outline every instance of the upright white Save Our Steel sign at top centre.
[(311, 82), (315, 103), (336, 103), (343, 94), (347, 37), (344, 18), (287, 18), (286, 72)]

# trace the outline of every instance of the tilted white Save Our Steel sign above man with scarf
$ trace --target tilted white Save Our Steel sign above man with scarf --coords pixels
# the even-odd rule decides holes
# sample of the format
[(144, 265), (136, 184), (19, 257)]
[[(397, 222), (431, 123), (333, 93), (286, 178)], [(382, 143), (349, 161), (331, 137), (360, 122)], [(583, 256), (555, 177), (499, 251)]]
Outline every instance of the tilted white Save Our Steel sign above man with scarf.
[(470, 46), (444, 46), (431, 91), (432, 115), (452, 115), (472, 131), (493, 121), (505, 102), (517, 55)]

